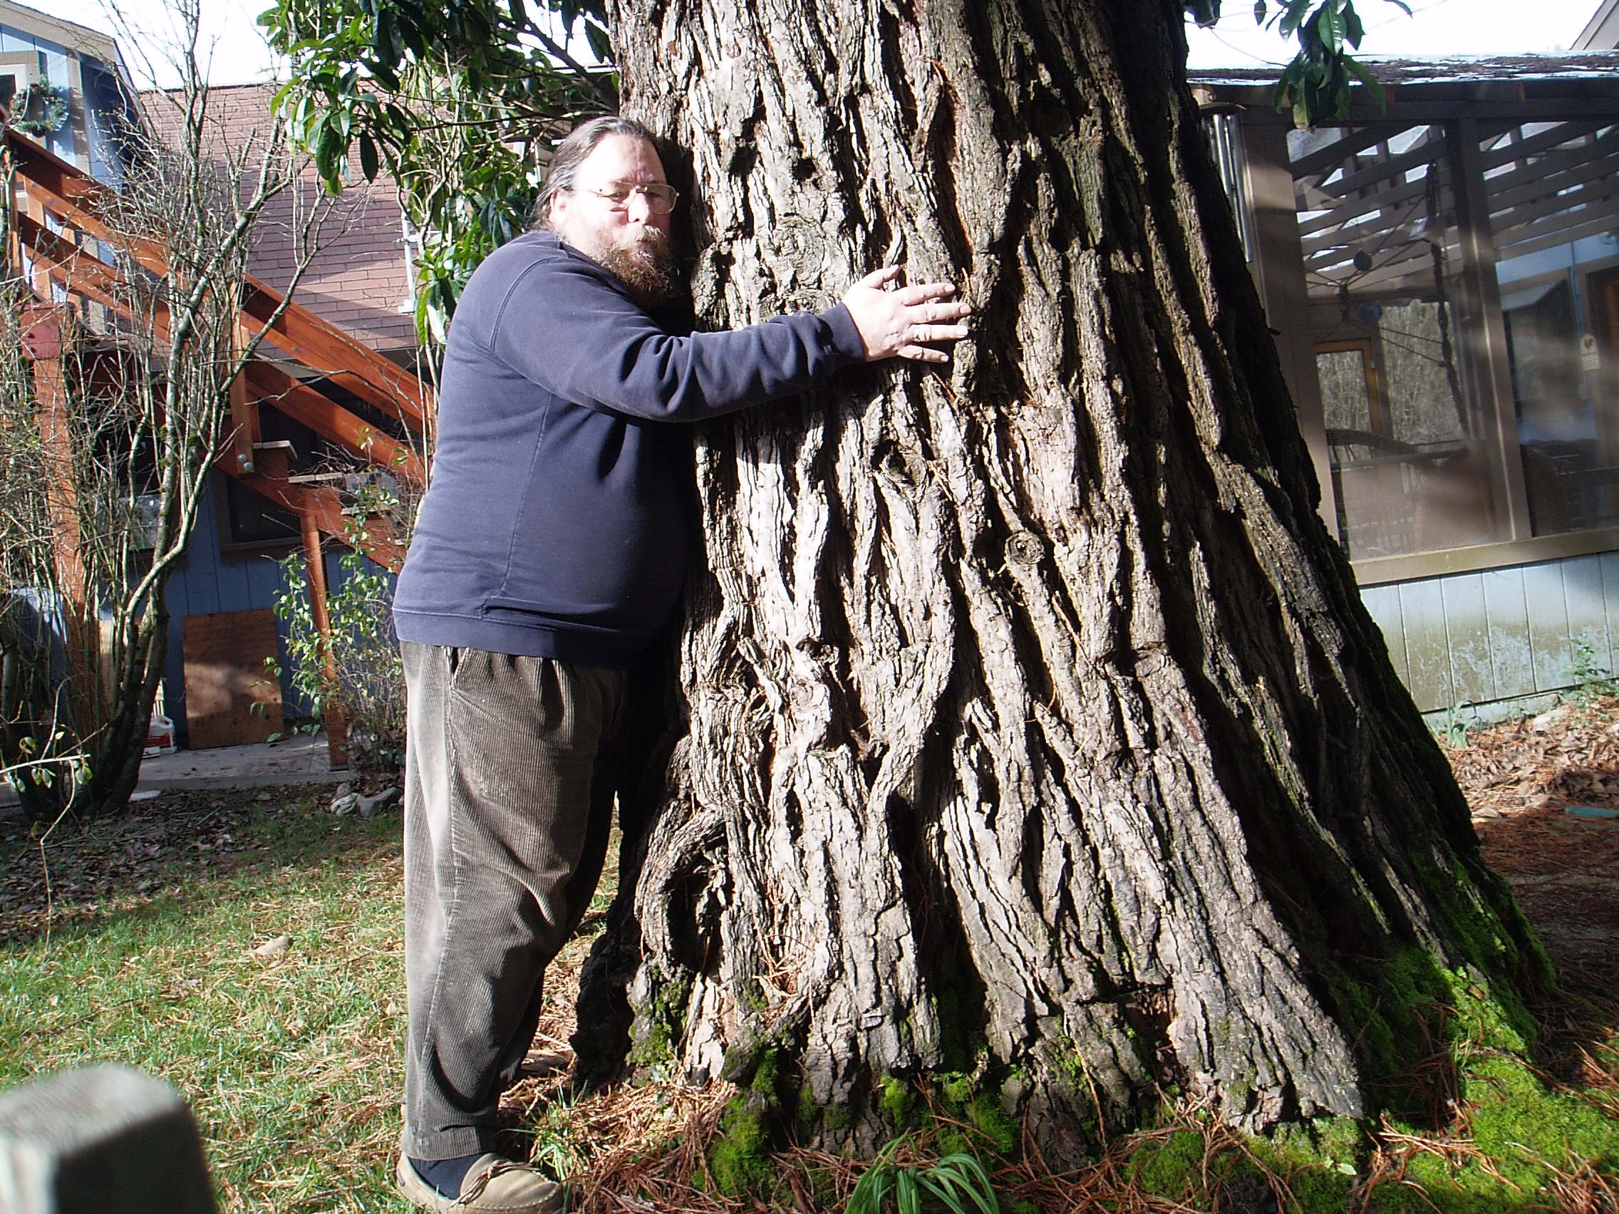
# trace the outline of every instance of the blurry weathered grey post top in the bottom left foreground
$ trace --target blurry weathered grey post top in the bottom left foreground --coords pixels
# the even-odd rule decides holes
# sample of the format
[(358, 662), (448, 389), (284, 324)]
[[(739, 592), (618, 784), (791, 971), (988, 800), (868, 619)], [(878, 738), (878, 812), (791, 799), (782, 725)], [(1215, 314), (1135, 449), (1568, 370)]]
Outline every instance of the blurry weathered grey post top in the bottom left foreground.
[(196, 1123), (128, 1067), (70, 1070), (0, 1094), (8, 1214), (214, 1214)]

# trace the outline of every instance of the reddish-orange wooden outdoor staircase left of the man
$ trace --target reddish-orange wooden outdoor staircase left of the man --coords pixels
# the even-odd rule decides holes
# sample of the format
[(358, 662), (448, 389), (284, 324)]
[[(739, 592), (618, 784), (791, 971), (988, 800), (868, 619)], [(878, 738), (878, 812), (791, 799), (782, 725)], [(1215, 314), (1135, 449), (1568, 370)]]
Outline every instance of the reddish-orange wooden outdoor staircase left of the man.
[[(134, 322), (123, 303), (118, 270), (100, 261), (89, 241), (125, 248), (154, 275), (168, 269), (162, 246), (112, 233), (99, 219), (108, 189), (74, 165), (10, 129), (3, 146), (13, 175), (6, 249), (13, 269), (31, 277), (34, 293), (44, 301), (60, 291), (79, 311), (94, 303)], [(236, 317), (238, 342), (262, 333), (262, 343), (232, 388), (230, 439), (217, 466), (298, 518), (306, 541), (319, 533), (343, 544), (358, 542), (366, 555), (397, 571), (405, 549), (389, 520), (358, 520), (359, 526), (355, 526), (356, 520), (345, 513), (338, 490), (295, 476), (287, 444), (261, 440), (259, 411), (277, 410), (346, 452), (358, 465), (382, 468), (402, 487), (419, 490), (426, 473), (416, 452), (429, 427), (432, 393), (410, 371), (309, 309), (296, 303), (282, 309), (282, 304), (278, 291), (248, 278)], [(277, 314), (277, 309), (282, 311)], [(155, 324), (154, 337), (167, 337), (167, 314), (139, 324)], [(337, 397), (345, 393), (395, 419), (405, 440), (382, 432), (340, 403)]]

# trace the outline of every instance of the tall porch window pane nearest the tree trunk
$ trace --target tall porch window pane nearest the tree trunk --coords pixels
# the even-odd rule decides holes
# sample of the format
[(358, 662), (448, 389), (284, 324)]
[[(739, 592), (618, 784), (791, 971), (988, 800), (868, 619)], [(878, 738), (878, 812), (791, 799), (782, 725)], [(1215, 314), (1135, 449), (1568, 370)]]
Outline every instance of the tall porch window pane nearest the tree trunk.
[(1502, 537), (1457, 337), (1444, 149), (1436, 125), (1289, 136), (1339, 539), (1357, 560)]

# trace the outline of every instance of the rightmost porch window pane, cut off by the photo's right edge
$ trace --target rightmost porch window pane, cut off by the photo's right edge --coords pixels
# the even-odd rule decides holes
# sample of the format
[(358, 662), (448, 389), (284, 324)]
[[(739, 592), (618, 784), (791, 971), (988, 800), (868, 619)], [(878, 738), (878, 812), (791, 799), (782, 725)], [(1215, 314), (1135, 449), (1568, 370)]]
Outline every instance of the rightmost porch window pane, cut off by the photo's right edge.
[(1536, 536), (1619, 523), (1619, 126), (1522, 123), (1480, 144), (1519, 452)]

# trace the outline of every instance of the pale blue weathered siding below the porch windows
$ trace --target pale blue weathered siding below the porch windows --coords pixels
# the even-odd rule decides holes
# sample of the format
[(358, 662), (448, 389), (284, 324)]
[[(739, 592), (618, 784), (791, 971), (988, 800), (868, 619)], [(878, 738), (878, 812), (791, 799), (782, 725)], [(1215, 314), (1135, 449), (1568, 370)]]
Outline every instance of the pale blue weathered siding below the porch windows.
[(1574, 641), (1619, 670), (1619, 552), (1360, 592), (1423, 712), (1561, 691)]

